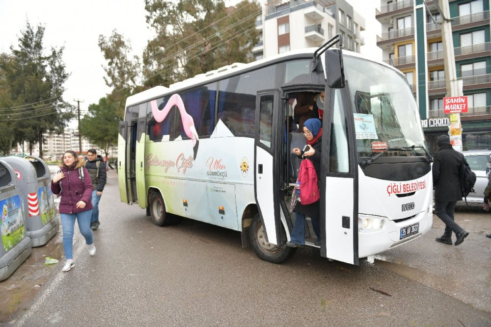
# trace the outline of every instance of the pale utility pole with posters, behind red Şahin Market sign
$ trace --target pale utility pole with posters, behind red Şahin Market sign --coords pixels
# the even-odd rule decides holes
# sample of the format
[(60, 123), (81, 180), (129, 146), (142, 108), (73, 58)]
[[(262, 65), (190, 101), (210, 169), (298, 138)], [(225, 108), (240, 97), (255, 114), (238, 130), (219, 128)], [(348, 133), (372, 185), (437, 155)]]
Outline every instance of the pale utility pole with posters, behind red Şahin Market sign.
[[(462, 80), (457, 80), (457, 70), (455, 68), (454, 41), (452, 38), (452, 20), (448, 0), (439, 0), (441, 16), (441, 39), (443, 41), (443, 65), (445, 71), (445, 86), (447, 97), (461, 97)], [(450, 114), (450, 125), (448, 126), (450, 142), (456, 151), (462, 152), (462, 124), (460, 113)]]

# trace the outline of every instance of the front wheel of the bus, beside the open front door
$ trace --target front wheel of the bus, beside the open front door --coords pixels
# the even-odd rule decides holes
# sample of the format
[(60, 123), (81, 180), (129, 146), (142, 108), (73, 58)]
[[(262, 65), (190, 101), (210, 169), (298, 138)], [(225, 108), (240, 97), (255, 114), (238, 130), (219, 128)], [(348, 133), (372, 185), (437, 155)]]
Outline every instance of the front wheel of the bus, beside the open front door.
[[(284, 233), (282, 229), (282, 233)], [(256, 255), (268, 262), (281, 263), (295, 253), (295, 248), (278, 247), (274, 244), (266, 242), (266, 233), (264, 230), (261, 216), (257, 213), (249, 226), (249, 241), (252, 250)]]

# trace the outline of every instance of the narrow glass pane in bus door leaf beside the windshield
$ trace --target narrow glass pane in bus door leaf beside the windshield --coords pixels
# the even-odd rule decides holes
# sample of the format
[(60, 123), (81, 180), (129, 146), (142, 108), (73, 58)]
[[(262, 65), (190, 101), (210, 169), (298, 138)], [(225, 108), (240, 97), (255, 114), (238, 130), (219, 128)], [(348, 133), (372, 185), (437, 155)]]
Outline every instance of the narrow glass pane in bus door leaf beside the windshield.
[(343, 107), (341, 91), (334, 91), (333, 119), (330, 126), (329, 172), (349, 173), (350, 155), (348, 145), (348, 123)]

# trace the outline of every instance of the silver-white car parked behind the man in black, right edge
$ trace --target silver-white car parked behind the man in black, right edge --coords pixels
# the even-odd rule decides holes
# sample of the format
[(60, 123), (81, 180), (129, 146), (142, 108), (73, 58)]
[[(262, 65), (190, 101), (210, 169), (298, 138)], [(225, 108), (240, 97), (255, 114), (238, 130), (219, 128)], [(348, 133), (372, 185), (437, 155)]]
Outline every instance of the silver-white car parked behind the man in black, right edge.
[[(488, 177), (486, 176), (486, 167), (488, 162), (491, 161), (490, 150), (471, 150), (462, 152), (469, 164), (470, 169), (476, 174), (476, 183), (474, 184), (474, 191), (467, 196), (467, 204), (482, 206), (484, 199), (484, 189), (488, 185)], [(457, 203), (458, 205), (465, 205), (464, 199)]]

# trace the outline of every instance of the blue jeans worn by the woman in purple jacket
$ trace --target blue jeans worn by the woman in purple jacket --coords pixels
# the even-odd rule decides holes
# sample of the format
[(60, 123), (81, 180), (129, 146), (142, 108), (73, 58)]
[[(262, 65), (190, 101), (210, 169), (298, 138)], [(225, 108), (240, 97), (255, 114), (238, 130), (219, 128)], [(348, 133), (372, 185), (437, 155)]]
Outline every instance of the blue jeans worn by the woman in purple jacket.
[(79, 224), (80, 232), (85, 238), (85, 244), (94, 243), (92, 230), (90, 230), (90, 215), (92, 210), (77, 213), (60, 213), (61, 225), (63, 226), (63, 250), (66, 259), (73, 259), (73, 230), (75, 227), (75, 218)]

